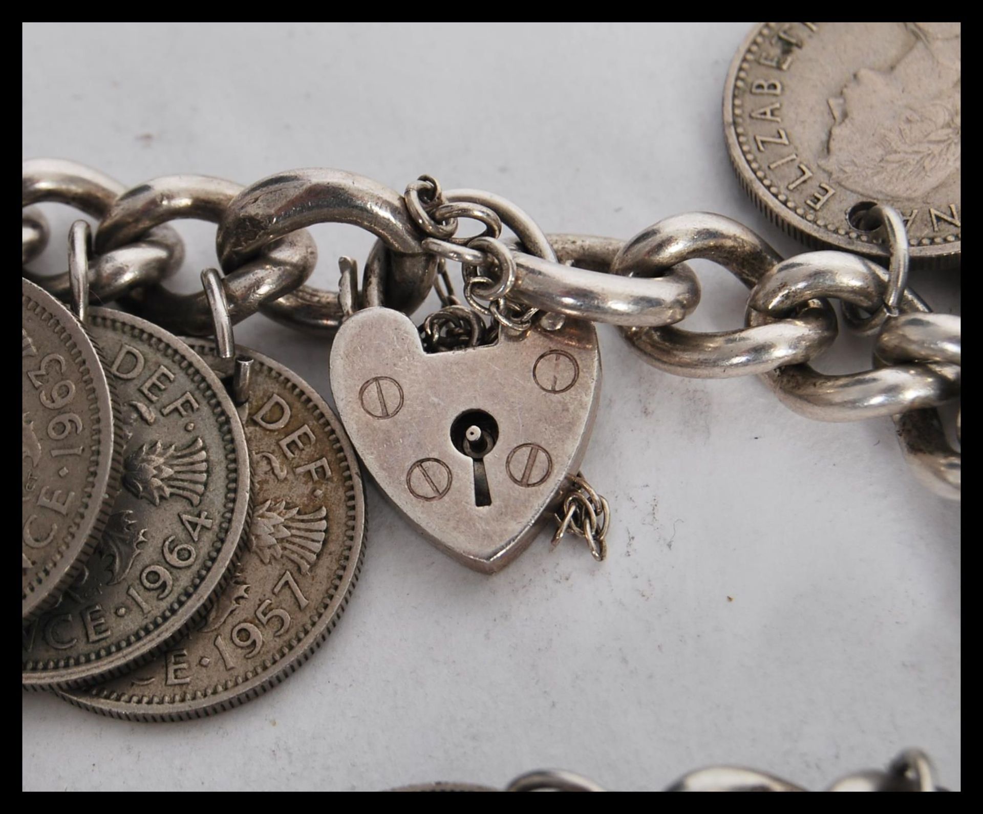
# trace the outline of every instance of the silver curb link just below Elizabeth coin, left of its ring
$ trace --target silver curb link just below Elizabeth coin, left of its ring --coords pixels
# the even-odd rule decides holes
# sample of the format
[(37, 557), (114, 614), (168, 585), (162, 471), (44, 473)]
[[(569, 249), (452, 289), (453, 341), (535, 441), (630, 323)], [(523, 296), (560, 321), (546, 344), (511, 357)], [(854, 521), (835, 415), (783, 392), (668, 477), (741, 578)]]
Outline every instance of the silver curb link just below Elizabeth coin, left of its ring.
[[(874, 310), (884, 300), (888, 272), (874, 262), (843, 252), (810, 252), (776, 265), (751, 292), (748, 324), (788, 316), (803, 303), (837, 298)], [(927, 312), (910, 289), (902, 311)], [(859, 421), (935, 407), (959, 393), (959, 367), (945, 363), (909, 363), (830, 376), (805, 364), (765, 374), (779, 399), (796, 413), (817, 421)]]

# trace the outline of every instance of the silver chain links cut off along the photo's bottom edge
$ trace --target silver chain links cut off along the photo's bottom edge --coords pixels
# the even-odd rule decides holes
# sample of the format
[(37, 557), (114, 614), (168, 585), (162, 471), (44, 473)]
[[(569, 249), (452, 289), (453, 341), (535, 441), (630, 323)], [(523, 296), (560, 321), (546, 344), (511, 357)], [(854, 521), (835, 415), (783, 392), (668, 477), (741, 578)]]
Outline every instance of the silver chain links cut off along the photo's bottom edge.
[[(434, 783), (405, 785), (393, 791), (497, 791), (483, 785)], [(546, 769), (528, 772), (503, 791), (604, 791), (601, 785), (573, 772)], [(774, 775), (736, 766), (711, 766), (690, 772), (665, 791), (808, 791)], [(935, 770), (919, 749), (906, 749), (887, 769), (868, 769), (840, 778), (827, 791), (948, 791), (935, 783)]]

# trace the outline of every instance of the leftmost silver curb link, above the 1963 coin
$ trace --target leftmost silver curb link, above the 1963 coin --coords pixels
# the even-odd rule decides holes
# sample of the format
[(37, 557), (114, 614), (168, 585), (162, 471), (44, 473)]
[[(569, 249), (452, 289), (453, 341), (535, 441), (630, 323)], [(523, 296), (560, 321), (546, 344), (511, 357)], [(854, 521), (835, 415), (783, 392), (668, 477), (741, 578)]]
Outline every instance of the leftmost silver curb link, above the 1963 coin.
[[(98, 170), (60, 158), (32, 158), (22, 165), (21, 204), (68, 204), (101, 219), (125, 187)], [(26, 232), (37, 246), (34, 234)], [(41, 247), (43, 248), (43, 246)], [(39, 249), (25, 248), (27, 258)], [(159, 283), (184, 261), (184, 243), (168, 226), (158, 227), (140, 240), (100, 253), (89, 263), (89, 296), (104, 303), (136, 287)], [(25, 262), (28, 262), (27, 260)], [(38, 274), (25, 268), (24, 276), (61, 300), (71, 297), (69, 272)]]

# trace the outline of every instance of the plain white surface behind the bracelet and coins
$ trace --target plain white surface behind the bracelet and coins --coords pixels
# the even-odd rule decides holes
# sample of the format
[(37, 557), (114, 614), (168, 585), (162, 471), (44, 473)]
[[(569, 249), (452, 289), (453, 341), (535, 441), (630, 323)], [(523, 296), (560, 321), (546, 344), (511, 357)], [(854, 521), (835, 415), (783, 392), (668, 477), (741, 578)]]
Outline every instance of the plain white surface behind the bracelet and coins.
[[(723, 144), (723, 81), (748, 29), (28, 25), (24, 155), (128, 185), (333, 166), (401, 191), (427, 172), (503, 195), (548, 232), (628, 238), (706, 209), (791, 254)], [(71, 213), (46, 211), (53, 269)], [(175, 286), (191, 290), (214, 229), (179, 230)], [(314, 232), (321, 285), (372, 245), (355, 227)], [(697, 268), (686, 325), (737, 327), (744, 289)], [(957, 276), (913, 285), (957, 313)], [(920, 746), (958, 788), (958, 505), (914, 480), (888, 419), (812, 422), (756, 378), (675, 378), (600, 334), (583, 469), (613, 509), (606, 562), (579, 542), (550, 552), (544, 535), (505, 571), (473, 573), (371, 488), (362, 578), (304, 669), (183, 724), (25, 694), (24, 787), (504, 785), (560, 767), (657, 789), (722, 762), (819, 787)], [(262, 317), (237, 339), (328, 393), (326, 344)], [(820, 369), (859, 370), (869, 348), (841, 336)]]

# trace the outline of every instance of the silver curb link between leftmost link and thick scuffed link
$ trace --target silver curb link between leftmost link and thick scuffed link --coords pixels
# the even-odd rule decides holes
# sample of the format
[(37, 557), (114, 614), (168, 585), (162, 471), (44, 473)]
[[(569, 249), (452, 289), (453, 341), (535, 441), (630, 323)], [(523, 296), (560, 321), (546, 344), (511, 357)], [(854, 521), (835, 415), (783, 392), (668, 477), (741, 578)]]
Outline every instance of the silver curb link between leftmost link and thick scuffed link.
[[(205, 175), (154, 178), (121, 195), (95, 233), (96, 251), (110, 251), (138, 239), (170, 220), (194, 218), (218, 223), (242, 186)], [(318, 251), (307, 232), (290, 234), (268, 246), (259, 257), (225, 262), (222, 280), (233, 322), (255, 314), (263, 303), (282, 297), (307, 279)], [(128, 303), (146, 319), (176, 333), (207, 336), (211, 313), (204, 291), (175, 294), (160, 285), (134, 292)]]

